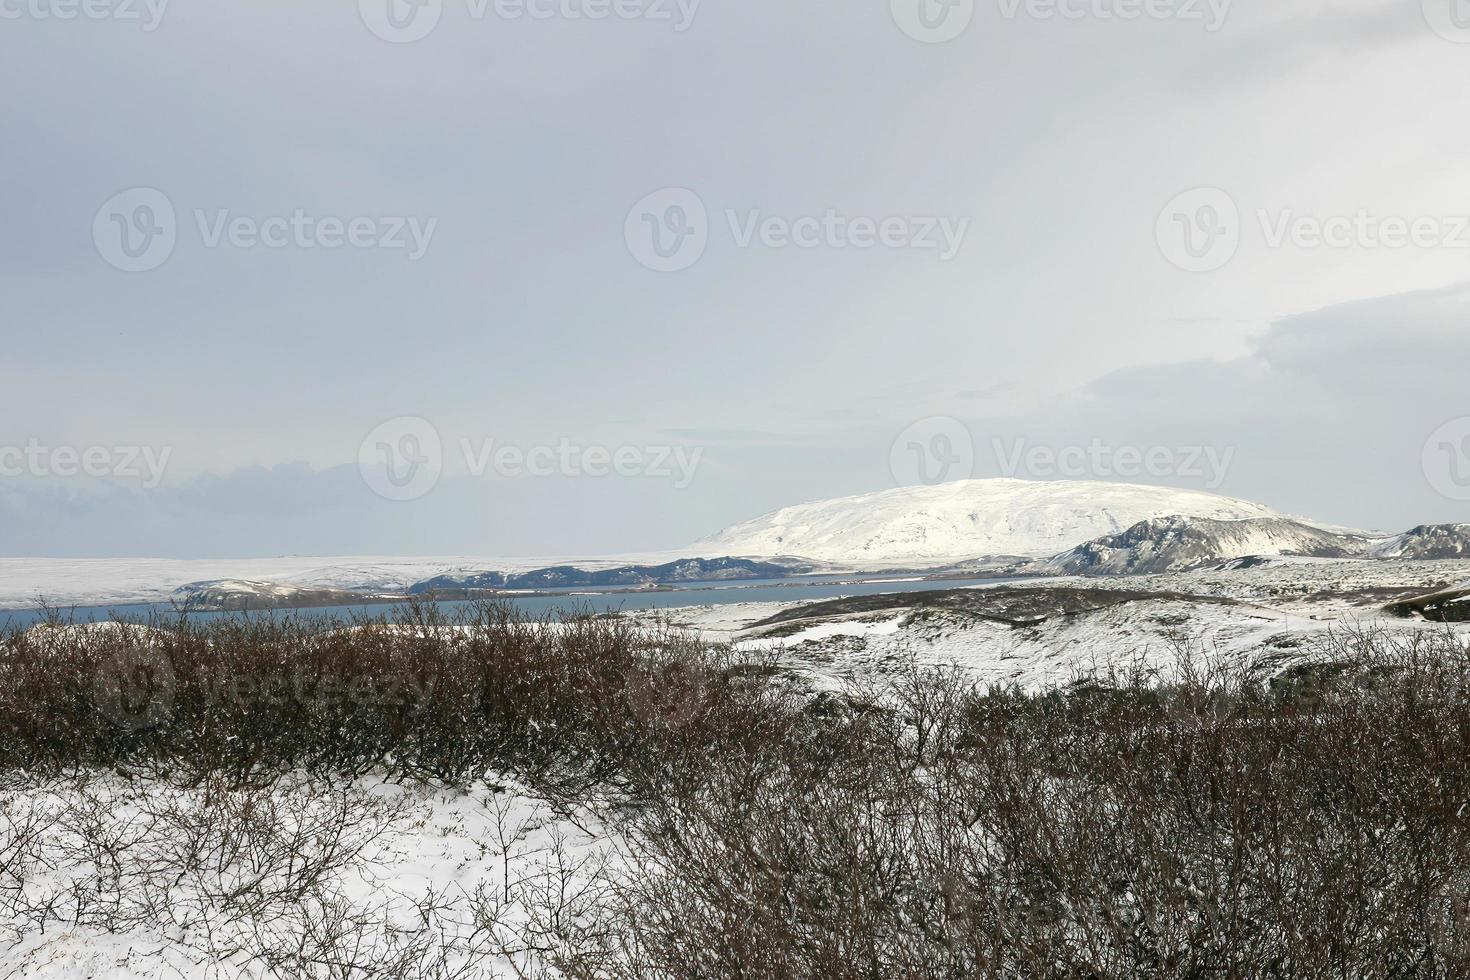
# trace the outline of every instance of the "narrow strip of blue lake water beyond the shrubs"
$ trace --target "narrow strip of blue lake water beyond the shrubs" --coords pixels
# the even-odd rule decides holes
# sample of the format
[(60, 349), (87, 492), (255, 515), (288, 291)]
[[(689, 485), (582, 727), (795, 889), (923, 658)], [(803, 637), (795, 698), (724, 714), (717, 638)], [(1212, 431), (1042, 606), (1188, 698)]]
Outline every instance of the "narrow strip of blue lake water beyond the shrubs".
[[(851, 595), (882, 595), (888, 592), (931, 592), (966, 586), (997, 585), (1008, 579), (944, 579), (900, 580), (883, 577), (811, 576), (800, 579), (757, 579), (748, 582), (691, 582), (663, 592), (557, 592), (538, 595), (509, 595), (504, 601), (532, 619), (556, 619), (563, 613), (612, 613), (626, 610), (673, 610), (688, 605), (726, 605), (731, 602), (816, 602)], [(472, 602), (435, 602), (444, 613)], [(363, 605), (328, 605), (312, 610), (263, 610), (259, 613), (190, 613), (196, 621), (229, 616), (293, 616), (301, 619), (354, 619), (391, 616), (391, 602)], [(135, 605), (93, 605), (65, 610), (63, 617), (76, 623), (110, 619), (148, 619), (153, 614), (173, 616), (168, 602)], [(40, 610), (0, 611), (0, 627), (26, 627), (44, 619)]]

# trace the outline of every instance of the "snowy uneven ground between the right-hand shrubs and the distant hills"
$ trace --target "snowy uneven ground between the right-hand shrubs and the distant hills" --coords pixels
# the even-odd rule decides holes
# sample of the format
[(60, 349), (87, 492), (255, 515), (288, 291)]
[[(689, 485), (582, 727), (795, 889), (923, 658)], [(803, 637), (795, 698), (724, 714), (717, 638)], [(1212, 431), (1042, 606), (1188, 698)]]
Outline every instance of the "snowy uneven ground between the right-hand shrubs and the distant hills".
[[(1069, 683), (1119, 661), (1167, 670), (1180, 655), (1232, 664), (1285, 663), (1347, 630), (1444, 630), (1446, 626), (1386, 616), (1404, 594), (1470, 582), (1470, 561), (1280, 560), (1263, 567), (1126, 579), (1048, 579), (992, 586), (1157, 594), (1102, 608), (1011, 624), (928, 605), (922, 594), (903, 608), (817, 614), (761, 626), (792, 605), (704, 605), (663, 614), (678, 626), (739, 649), (775, 652), (819, 683), (888, 673), (907, 664), (957, 666), (998, 683)], [(800, 607), (795, 607), (800, 608)], [(651, 616), (651, 614), (648, 614)], [(1470, 642), (1470, 624), (1454, 627)]]

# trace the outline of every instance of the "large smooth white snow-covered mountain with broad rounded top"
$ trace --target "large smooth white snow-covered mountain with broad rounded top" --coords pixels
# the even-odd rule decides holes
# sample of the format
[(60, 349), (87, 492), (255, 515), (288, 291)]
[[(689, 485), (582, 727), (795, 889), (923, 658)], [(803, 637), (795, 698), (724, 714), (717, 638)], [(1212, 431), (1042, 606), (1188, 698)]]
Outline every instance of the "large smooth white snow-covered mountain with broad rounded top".
[(1283, 519), (1201, 491), (1102, 482), (961, 480), (786, 507), (697, 542), (701, 555), (883, 566), (1050, 558), (1158, 517)]

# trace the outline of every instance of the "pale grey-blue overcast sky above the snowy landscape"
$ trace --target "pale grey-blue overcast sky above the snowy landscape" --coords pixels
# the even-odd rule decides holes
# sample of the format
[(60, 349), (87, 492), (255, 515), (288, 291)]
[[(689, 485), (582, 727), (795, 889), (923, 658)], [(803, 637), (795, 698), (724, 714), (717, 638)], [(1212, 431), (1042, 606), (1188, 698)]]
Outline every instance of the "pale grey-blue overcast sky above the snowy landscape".
[(0, 0), (0, 555), (1470, 520), (1466, 0)]

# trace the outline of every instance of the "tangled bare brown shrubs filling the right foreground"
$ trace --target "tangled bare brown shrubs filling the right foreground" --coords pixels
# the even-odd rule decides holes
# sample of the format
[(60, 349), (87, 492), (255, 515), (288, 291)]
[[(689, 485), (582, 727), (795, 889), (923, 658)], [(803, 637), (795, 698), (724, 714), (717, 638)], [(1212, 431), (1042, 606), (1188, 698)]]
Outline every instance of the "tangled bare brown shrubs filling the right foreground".
[(653, 801), (613, 973), (1466, 976), (1466, 667), (1339, 636), (1282, 676), (853, 692)]

